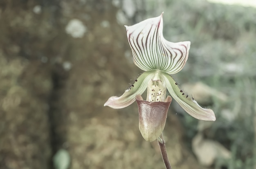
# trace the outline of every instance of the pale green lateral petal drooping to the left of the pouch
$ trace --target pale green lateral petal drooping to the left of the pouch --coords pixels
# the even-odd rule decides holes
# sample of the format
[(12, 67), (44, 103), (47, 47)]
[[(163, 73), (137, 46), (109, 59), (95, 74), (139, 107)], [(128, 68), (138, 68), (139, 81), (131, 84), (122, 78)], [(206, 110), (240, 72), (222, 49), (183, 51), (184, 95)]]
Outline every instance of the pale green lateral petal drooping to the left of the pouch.
[(104, 106), (109, 106), (114, 109), (125, 108), (131, 105), (135, 101), (136, 94), (142, 94), (147, 86), (148, 82), (153, 78), (155, 70), (146, 71), (139, 75), (137, 81), (127, 89), (120, 97), (112, 96), (106, 101)]

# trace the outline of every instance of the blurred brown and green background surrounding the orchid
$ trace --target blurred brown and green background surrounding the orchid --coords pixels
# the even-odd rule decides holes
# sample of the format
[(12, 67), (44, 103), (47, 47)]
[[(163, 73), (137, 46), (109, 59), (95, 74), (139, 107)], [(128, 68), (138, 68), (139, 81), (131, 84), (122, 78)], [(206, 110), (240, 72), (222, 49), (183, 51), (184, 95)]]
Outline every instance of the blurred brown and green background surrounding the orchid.
[(163, 169), (137, 104), (103, 107), (138, 77), (124, 25), (164, 11), (164, 37), (191, 41), (174, 79), (217, 120), (173, 101), (174, 169), (256, 169), (256, 9), (206, 0), (0, 0), (0, 169)]

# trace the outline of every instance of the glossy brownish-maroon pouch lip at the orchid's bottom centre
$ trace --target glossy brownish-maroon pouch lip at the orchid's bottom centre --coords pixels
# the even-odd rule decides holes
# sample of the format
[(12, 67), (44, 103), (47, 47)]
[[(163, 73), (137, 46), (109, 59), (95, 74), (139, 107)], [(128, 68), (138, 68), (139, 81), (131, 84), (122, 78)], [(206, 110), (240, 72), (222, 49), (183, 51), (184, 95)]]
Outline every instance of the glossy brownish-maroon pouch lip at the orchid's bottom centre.
[(139, 110), (139, 130), (147, 141), (154, 141), (162, 134), (166, 123), (168, 108), (172, 98), (166, 97), (165, 102), (144, 101), (141, 95), (136, 95)]

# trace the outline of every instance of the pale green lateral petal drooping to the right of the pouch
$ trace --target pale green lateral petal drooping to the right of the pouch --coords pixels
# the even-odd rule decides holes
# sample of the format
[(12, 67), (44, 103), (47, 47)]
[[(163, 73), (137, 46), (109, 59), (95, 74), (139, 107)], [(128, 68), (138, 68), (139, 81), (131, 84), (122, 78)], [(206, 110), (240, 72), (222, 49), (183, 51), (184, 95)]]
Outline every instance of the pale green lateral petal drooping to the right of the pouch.
[(166, 88), (173, 97), (179, 103), (179, 105), (191, 116), (193, 116), (196, 119), (204, 120), (204, 121), (215, 121), (216, 117), (211, 109), (204, 109), (198, 105), (198, 103), (190, 97), (187, 97), (186, 94), (180, 88), (178, 85), (175, 84), (174, 79), (166, 74), (163, 73), (163, 78), (166, 82)]

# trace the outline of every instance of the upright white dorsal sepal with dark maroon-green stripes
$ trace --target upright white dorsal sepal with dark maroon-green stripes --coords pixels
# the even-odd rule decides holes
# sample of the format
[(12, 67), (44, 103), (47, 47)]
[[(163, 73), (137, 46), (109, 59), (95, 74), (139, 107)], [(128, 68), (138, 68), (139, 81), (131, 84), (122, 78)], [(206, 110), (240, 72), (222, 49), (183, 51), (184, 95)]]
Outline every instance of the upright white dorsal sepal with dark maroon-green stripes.
[(163, 37), (162, 14), (133, 26), (126, 26), (133, 61), (142, 70), (174, 74), (182, 70), (189, 56), (190, 42), (173, 43)]

